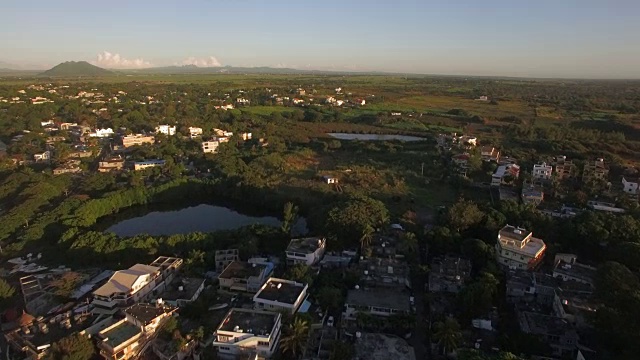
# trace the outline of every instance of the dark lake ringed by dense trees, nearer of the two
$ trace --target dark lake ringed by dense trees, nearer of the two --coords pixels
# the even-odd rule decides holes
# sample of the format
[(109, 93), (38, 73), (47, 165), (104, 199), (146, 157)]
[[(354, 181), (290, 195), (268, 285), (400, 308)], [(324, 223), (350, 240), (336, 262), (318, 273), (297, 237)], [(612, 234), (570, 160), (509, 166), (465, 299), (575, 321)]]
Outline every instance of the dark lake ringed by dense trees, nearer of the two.
[[(150, 212), (144, 216), (120, 221), (106, 231), (118, 236), (158, 236), (233, 230), (253, 224), (279, 227), (282, 222), (273, 216), (249, 216), (223, 206), (200, 204), (175, 211)], [(292, 234), (304, 235), (307, 231), (306, 220), (299, 217), (292, 227)]]

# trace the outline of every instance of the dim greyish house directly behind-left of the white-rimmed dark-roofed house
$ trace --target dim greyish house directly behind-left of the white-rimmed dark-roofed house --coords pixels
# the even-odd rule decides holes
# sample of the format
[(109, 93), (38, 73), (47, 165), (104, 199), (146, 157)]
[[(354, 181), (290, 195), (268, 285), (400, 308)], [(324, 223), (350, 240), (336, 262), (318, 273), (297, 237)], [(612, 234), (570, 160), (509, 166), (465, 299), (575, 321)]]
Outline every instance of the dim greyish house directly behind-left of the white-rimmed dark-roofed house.
[(218, 276), (220, 290), (255, 293), (269, 279), (273, 263), (233, 261)]

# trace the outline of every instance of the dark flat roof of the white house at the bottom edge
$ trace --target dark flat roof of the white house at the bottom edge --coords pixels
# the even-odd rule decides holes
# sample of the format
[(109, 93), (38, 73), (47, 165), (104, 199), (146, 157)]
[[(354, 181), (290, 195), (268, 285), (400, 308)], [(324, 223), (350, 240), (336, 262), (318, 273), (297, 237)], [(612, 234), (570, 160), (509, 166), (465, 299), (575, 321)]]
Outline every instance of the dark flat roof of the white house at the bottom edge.
[(280, 316), (279, 313), (268, 311), (234, 308), (229, 310), (227, 316), (222, 320), (218, 331), (238, 332), (242, 330), (248, 334), (269, 336)]

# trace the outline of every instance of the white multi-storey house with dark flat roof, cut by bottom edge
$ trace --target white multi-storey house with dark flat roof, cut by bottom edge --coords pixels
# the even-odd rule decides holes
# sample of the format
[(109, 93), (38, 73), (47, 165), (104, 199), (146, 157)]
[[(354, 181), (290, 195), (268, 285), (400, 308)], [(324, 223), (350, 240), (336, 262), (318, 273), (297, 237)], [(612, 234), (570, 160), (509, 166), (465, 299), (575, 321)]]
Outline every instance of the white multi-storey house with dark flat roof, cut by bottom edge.
[(279, 313), (231, 309), (213, 334), (213, 347), (220, 359), (236, 360), (251, 353), (253, 358), (269, 359), (278, 348), (281, 328)]

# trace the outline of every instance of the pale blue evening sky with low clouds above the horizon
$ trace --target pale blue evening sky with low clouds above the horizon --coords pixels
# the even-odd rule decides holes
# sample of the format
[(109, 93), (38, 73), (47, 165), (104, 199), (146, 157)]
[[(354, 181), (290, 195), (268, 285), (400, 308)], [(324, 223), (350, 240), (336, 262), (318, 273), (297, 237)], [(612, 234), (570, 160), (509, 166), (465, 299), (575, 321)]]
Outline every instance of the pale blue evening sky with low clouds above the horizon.
[(640, 78), (639, 19), (640, 0), (7, 1), (0, 65)]

